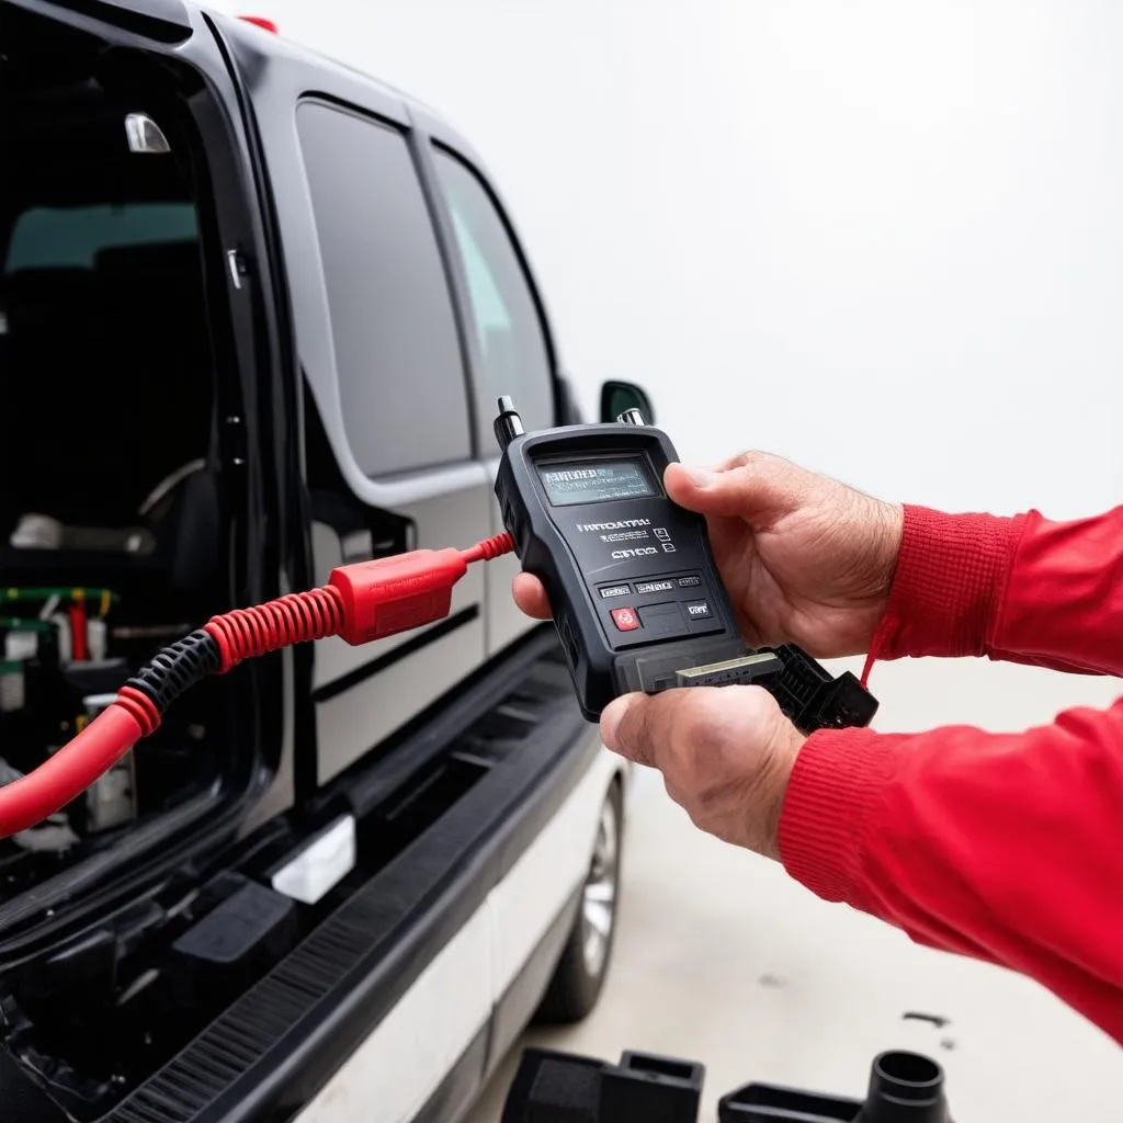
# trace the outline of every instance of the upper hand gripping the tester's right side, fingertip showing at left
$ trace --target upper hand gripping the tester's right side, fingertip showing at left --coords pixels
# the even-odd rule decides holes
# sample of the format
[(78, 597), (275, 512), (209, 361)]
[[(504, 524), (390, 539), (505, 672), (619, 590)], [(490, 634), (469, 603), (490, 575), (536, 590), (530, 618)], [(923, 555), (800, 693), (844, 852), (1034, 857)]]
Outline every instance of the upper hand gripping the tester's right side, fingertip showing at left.
[[(672, 464), (667, 494), (704, 515), (718, 568), (754, 647), (797, 643), (818, 658), (862, 655), (885, 611), (903, 508), (766, 453), (716, 469)], [(514, 600), (549, 619), (540, 582), (520, 574)]]

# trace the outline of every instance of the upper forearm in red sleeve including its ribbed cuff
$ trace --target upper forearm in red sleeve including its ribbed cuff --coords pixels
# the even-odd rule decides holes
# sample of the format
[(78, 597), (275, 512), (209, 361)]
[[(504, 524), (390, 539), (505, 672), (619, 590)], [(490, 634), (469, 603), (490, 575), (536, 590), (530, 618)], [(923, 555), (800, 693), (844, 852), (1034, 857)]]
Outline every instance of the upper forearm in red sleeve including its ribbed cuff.
[(1123, 506), (1050, 522), (905, 509), (878, 659), (987, 656), (1123, 675)]

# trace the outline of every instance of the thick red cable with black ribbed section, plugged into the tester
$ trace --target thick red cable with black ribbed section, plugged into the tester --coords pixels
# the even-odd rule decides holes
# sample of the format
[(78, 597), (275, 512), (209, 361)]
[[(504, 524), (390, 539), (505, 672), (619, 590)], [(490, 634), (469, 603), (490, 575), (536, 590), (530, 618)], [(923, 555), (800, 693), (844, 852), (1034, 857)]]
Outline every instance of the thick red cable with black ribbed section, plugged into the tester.
[(453, 586), (473, 562), (514, 548), (496, 535), (465, 550), (413, 550), (334, 569), (327, 585), (212, 617), (165, 647), (117, 699), (34, 772), (0, 787), (0, 838), (55, 814), (159, 725), (167, 707), (207, 675), (293, 643), (338, 636), (358, 646), (448, 615)]

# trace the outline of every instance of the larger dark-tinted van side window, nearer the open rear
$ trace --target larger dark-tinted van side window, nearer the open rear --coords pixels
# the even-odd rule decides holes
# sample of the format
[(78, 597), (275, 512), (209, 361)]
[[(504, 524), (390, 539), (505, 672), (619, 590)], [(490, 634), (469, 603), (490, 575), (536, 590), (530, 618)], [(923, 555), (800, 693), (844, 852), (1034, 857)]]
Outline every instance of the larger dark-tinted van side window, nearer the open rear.
[(316, 102), (296, 126), (356, 460), (376, 476), (466, 459), (453, 305), (404, 135)]

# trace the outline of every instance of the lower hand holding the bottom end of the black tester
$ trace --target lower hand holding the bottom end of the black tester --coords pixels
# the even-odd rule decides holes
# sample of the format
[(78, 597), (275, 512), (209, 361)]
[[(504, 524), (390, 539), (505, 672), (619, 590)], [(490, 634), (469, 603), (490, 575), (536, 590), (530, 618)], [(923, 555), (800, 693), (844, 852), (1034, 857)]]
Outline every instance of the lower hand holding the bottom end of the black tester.
[(601, 714), (601, 739), (658, 768), (701, 830), (779, 859), (779, 816), (805, 738), (759, 686), (626, 694)]

